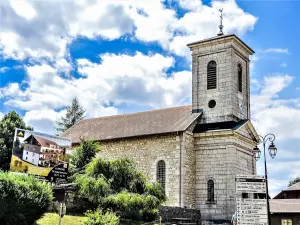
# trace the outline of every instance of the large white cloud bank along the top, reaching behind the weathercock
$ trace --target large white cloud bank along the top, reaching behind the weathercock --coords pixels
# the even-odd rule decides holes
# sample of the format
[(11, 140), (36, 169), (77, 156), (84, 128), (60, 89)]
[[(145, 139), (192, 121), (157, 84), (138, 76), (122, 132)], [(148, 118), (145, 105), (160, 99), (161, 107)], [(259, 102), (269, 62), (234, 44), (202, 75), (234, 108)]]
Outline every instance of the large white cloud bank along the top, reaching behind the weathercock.
[(5, 16), (1, 15), (0, 49), (4, 57), (21, 60), (56, 61), (68, 55), (67, 44), (79, 36), (113, 40), (126, 34), (145, 42), (157, 41), (164, 49), (189, 56), (188, 42), (217, 34), (219, 8), (226, 11), (225, 32), (243, 34), (257, 21), (233, 0), (213, 1), (211, 7), (197, 0), (181, 0), (180, 5), (190, 10), (182, 18), (161, 0), (16, 2), (1, 5)]

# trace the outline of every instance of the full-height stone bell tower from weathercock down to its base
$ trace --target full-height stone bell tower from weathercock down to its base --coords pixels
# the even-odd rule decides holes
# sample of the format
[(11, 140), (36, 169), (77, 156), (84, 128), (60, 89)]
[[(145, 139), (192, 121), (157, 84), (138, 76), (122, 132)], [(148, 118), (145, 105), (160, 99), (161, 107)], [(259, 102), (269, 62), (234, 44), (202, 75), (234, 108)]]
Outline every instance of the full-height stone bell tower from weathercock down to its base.
[[(235, 177), (256, 174), (258, 134), (250, 119), (249, 57), (254, 51), (234, 34), (188, 44), (192, 51), (195, 208), (204, 221), (227, 221), (236, 210)], [(222, 222), (223, 221), (223, 222)]]

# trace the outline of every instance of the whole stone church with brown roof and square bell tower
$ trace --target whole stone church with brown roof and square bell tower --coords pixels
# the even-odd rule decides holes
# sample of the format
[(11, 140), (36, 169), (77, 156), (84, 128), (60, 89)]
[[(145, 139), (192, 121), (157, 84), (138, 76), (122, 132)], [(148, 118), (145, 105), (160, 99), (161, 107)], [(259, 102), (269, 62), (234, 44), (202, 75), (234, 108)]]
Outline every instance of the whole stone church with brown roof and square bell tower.
[[(221, 29), (222, 30), (222, 29)], [(259, 138), (250, 115), (250, 55), (234, 34), (187, 45), (192, 105), (84, 119), (62, 136), (101, 144), (99, 157), (129, 158), (160, 182), (167, 206), (199, 209), (207, 220), (231, 220), (235, 176), (256, 174)]]

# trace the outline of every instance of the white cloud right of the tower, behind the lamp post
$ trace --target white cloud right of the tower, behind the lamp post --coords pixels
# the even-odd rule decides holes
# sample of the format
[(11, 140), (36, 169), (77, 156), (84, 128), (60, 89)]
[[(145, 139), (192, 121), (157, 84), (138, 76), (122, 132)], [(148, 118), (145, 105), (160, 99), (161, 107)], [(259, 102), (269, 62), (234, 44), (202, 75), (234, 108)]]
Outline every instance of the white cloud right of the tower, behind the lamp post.
[[(274, 160), (268, 157), (267, 163), (272, 197), (300, 174), (300, 98), (283, 99), (280, 95), (292, 81), (293, 77), (286, 74), (264, 77), (260, 92), (251, 98), (252, 122), (258, 133), (276, 136), (277, 156)], [(263, 168), (263, 160), (260, 160), (258, 174), (264, 174)]]

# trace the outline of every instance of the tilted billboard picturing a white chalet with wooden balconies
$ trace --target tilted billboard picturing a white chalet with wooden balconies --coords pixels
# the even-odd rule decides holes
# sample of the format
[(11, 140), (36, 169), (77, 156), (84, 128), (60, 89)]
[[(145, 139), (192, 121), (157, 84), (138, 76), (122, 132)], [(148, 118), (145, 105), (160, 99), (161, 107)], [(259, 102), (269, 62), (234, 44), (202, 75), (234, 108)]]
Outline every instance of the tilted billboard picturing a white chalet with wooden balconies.
[(30, 174), (53, 184), (67, 182), (69, 139), (17, 128), (10, 171)]

